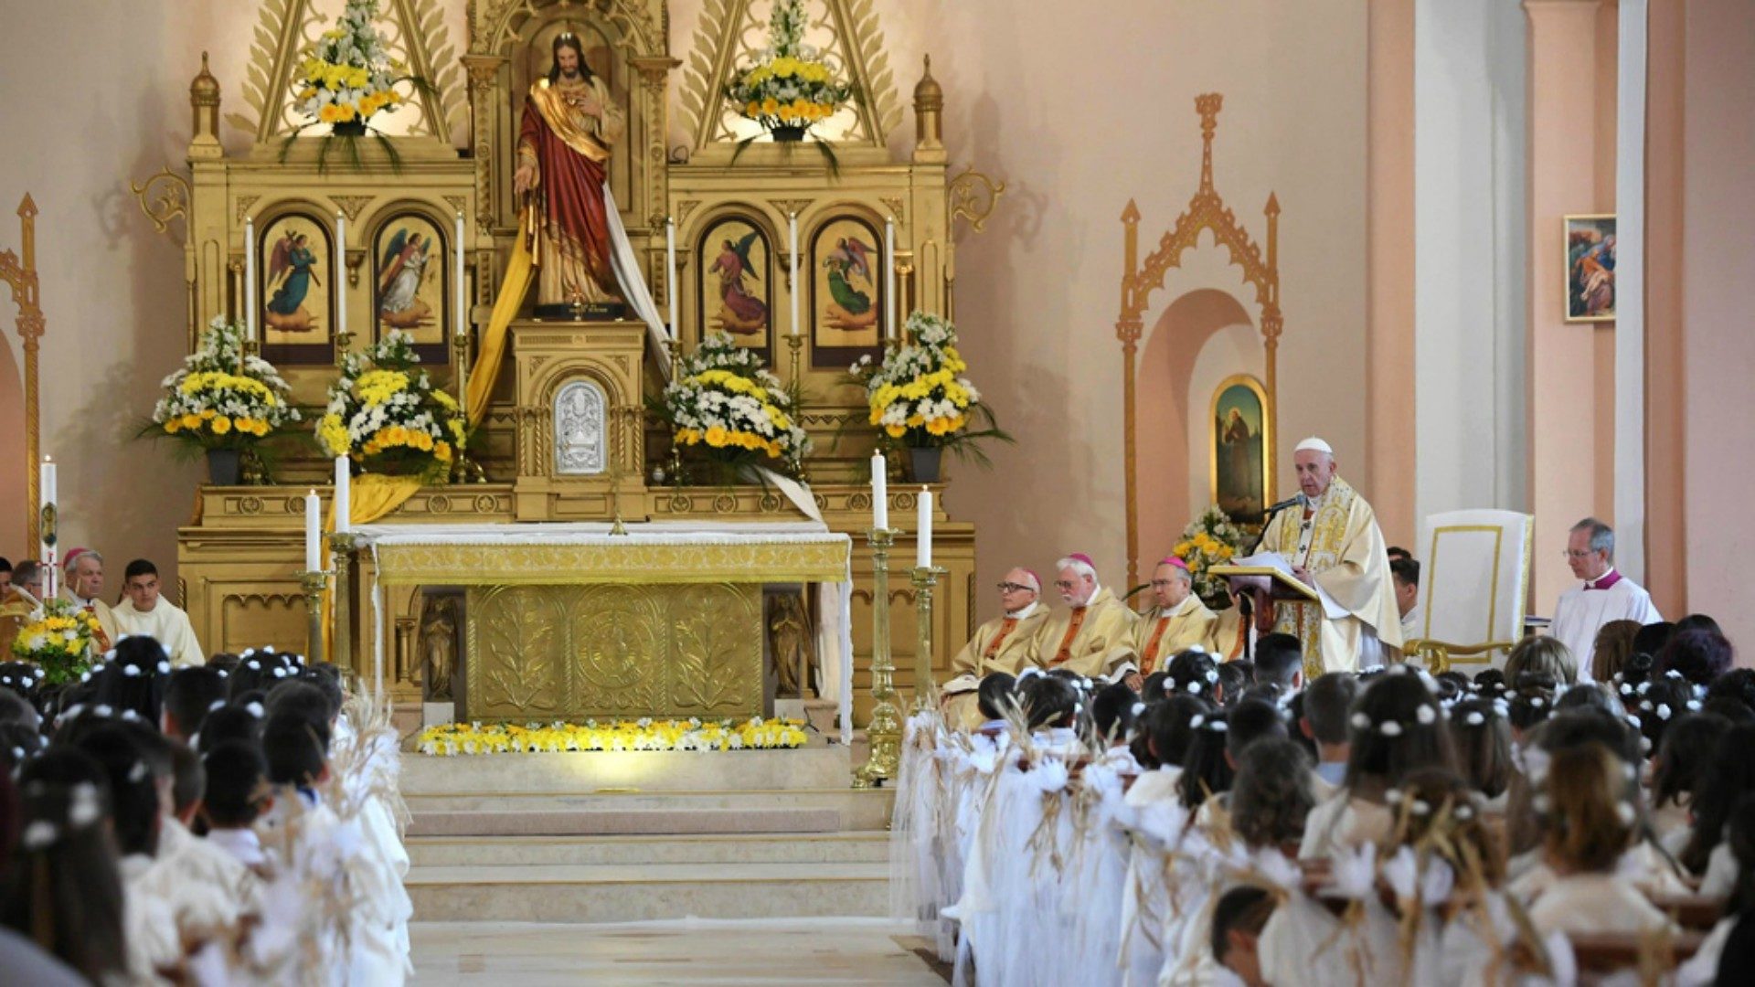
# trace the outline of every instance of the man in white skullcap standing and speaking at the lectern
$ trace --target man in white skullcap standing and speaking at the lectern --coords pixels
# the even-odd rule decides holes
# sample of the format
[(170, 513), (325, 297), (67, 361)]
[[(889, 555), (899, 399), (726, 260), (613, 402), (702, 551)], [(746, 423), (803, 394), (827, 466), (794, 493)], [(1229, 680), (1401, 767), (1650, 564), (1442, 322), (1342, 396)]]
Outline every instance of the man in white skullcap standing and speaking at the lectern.
[[(1304, 643), (1322, 666), (1358, 671), (1383, 664), (1383, 645), (1402, 646), (1390, 557), (1371, 504), (1336, 472), (1334, 448), (1311, 437), (1292, 455), (1304, 509), (1274, 515), (1262, 550), (1278, 551), (1292, 574), (1323, 594), (1323, 604), (1278, 604), (1278, 629)], [(1311, 676), (1313, 678), (1313, 676)]]

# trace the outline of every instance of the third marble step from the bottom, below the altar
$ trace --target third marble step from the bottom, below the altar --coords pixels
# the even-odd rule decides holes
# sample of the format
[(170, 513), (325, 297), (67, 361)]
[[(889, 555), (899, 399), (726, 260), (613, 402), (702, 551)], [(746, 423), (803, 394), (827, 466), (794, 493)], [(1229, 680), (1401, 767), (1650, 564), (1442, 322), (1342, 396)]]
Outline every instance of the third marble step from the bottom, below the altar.
[[(469, 831), (421, 829), (423, 818), (441, 815), (519, 815), (542, 813), (555, 817), (602, 815), (641, 818), (658, 829), (618, 825), (614, 829), (563, 829), (548, 832), (821, 832), (825, 829), (885, 829), (890, 824), (893, 792), (885, 789), (769, 789), (769, 790), (707, 790), (707, 792), (498, 792), (470, 790), (409, 792), (404, 789), (414, 827), (409, 832), (423, 836), (460, 834)], [(835, 818), (827, 818), (828, 813)], [(700, 817), (679, 820), (684, 829), (663, 829), (665, 817)], [(714, 817), (723, 829), (713, 829)], [(797, 817), (797, 825), (788, 818)], [(827, 820), (827, 822), (825, 822)], [(484, 831), (484, 832), (518, 832)]]

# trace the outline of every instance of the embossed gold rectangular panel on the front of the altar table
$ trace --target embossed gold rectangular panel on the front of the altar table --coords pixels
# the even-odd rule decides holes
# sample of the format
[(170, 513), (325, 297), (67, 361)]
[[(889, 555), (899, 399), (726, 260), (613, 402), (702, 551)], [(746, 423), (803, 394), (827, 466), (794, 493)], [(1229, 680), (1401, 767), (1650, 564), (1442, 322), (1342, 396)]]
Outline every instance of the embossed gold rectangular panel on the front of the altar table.
[(760, 717), (762, 587), (470, 587), (472, 720)]

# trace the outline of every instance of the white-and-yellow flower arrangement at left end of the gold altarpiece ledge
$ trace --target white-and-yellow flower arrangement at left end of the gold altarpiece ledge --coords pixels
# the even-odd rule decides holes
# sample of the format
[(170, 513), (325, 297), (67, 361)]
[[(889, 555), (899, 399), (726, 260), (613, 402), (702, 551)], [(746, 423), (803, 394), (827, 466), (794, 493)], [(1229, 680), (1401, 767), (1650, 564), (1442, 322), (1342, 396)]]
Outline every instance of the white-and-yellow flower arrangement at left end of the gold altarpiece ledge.
[(160, 386), (165, 397), (153, 406), (153, 423), (142, 434), (205, 451), (219, 485), (239, 481), (242, 453), (254, 453), (261, 439), (300, 420), (274, 364), (247, 357), (244, 327), (219, 316), (207, 323), (183, 369)]

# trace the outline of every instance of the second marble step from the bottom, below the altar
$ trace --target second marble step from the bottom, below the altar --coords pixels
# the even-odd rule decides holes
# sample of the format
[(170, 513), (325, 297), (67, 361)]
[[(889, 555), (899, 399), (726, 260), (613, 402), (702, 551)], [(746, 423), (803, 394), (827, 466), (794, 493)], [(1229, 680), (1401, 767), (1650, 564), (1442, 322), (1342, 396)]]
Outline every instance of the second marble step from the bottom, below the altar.
[(411, 836), (416, 868), (579, 864), (883, 864), (886, 832), (700, 836)]

